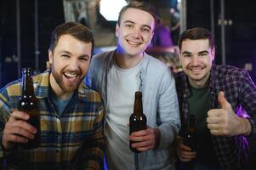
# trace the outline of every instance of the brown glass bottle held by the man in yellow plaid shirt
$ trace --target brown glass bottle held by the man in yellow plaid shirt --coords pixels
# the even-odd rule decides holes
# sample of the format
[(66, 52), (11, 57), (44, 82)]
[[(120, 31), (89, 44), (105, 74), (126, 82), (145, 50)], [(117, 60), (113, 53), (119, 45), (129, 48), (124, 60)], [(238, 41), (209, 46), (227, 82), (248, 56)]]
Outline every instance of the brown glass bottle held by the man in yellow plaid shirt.
[(37, 133), (35, 134), (34, 139), (29, 139), (26, 144), (20, 144), (20, 147), (26, 150), (35, 149), (40, 144), (41, 128), (39, 101), (34, 94), (30, 68), (22, 69), (22, 95), (19, 99), (18, 110), (26, 112), (30, 116), (27, 122), (37, 128)]

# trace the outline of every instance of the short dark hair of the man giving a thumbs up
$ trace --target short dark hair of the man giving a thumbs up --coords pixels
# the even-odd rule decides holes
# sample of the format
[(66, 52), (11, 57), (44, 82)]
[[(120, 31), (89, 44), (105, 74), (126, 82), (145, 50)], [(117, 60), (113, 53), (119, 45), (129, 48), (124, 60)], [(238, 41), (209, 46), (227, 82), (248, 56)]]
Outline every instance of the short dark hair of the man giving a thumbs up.
[(184, 31), (179, 37), (179, 49), (181, 49), (182, 42), (185, 40), (200, 40), (208, 39), (210, 48), (214, 48), (213, 34), (206, 28), (196, 27)]

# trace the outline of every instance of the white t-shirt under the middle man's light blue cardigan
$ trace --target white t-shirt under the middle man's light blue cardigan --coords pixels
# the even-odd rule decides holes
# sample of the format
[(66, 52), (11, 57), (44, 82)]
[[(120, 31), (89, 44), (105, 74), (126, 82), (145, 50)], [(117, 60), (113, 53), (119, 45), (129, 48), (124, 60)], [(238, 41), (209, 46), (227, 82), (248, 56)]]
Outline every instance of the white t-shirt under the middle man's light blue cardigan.
[(109, 169), (135, 169), (134, 152), (129, 149), (129, 116), (134, 111), (134, 94), (139, 90), (142, 61), (132, 69), (116, 64), (108, 76), (109, 107), (106, 108), (106, 161)]

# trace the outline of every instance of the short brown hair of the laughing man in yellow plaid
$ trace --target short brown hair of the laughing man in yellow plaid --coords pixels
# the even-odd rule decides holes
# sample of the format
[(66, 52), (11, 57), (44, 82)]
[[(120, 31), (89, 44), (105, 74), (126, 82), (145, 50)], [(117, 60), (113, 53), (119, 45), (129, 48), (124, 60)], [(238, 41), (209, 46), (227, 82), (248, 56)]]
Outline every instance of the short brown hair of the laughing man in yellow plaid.
[(77, 22), (66, 22), (61, 24), (60, 26), (57, 26), (52, 32), (49, 50), (54, 52), (54, 48), (59, 42), (60, 37), (63, 35), (71, 35), (72, 37), (75, 37), (82, 42), (92, 42), (91, 54), (93, 55), (94, 35), (93, 32), (88, 29), (88, 27), (83, 26), (82, 24)]

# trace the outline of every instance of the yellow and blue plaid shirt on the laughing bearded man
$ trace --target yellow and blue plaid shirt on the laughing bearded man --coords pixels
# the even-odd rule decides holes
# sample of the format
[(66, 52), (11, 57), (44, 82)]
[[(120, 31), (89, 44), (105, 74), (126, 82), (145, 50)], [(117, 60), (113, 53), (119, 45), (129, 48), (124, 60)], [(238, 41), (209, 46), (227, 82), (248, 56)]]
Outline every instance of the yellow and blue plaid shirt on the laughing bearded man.
[[(104, 108), (100, 94), (81, 83), (78, 91), (59, 116), (48, 98), (49, 71), (33, 77), (40, 100), (41, 144), (35, 150), (15, 147), (6, 152), (0, 146), (0, 159), (7, 169), (100, 169), (103, 164)], [(16, 110), (21, 94), (20, 80), (0, 91), (0, 137), (11, 110)]]

